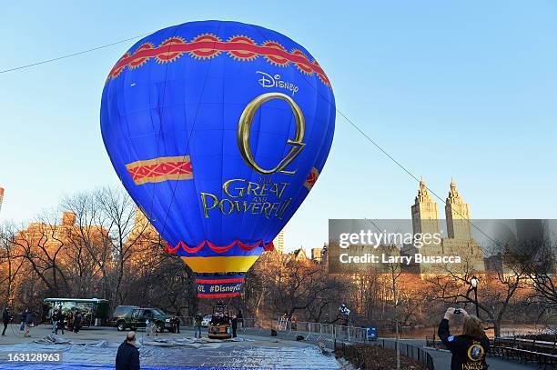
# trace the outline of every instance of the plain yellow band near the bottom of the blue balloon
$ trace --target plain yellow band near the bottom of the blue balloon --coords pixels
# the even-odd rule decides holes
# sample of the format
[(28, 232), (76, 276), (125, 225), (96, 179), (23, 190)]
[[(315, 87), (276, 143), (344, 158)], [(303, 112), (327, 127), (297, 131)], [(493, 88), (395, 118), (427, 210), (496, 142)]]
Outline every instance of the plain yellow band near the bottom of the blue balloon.
[(182, 257), (195, 273), (246, 273), (258, 260), (258, 255), (234, 255), (229, 257)]

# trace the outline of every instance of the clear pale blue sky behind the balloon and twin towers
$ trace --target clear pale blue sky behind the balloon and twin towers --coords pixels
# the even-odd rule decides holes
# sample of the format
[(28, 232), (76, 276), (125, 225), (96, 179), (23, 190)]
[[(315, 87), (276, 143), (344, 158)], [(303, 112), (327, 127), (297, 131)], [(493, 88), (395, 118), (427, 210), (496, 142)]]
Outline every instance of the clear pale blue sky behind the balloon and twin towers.
[[(0, 70), (169, 25), (262, 25), (309, 49), (337, 107), (475, 218), (557, 218), (557, 5), (551, 1), (6, 3)], [(133, 41), (0, 74), (0, 221), (117, 185), (99, 129), (106, 75)], [(337, 116), (319, 182), (287, 248), (322, 245), (329, 218), (406, 218), (418, 184)], [(440, 207), (440, 211), (442, 208)]]

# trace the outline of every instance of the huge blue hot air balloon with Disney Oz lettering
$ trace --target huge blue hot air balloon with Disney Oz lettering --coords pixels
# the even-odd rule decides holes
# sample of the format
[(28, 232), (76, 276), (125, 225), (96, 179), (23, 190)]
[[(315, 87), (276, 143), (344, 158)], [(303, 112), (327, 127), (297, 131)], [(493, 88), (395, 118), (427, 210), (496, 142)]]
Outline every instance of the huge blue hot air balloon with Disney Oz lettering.
[(100, 119), (117, 175), (196, 273), (197, 295), (228, 297), (315, 184), (335, 102), (289, 37), (204, 21), (132, 46), (108, 74)]

